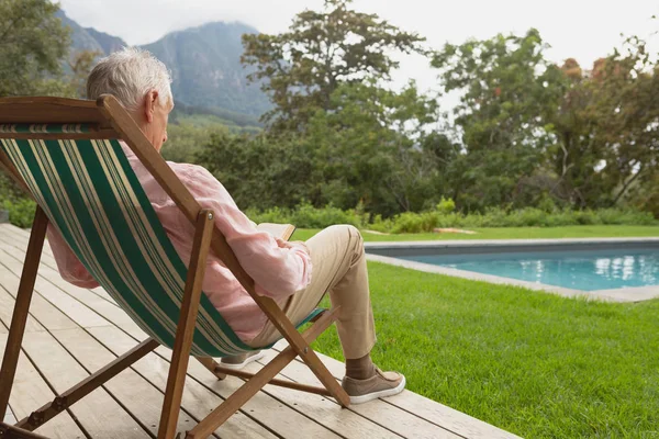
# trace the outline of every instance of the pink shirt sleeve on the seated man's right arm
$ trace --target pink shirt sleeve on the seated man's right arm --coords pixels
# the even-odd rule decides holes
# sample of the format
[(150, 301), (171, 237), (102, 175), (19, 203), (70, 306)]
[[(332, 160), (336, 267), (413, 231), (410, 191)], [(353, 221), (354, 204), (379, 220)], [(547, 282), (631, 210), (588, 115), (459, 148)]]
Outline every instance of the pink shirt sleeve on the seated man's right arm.
[(202, 207), (214, 211), (215, 225), (256, 282), (258, 294), (280, 299), (309, 285), (311, 257), (303, 244), (280, 245), (270, 234), (258, 230), (206, 169), (190, 167), (181, 181)]

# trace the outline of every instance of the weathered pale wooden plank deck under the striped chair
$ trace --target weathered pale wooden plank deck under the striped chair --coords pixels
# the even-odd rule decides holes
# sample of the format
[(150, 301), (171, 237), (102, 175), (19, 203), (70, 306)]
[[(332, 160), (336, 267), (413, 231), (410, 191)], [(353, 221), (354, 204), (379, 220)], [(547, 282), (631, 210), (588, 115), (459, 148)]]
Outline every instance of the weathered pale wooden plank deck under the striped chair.
[[(29, 233), (0, 224), (0, 350), (13, 309)], [(145, 334), (101, 289), (64, 281), (44, 250), (8, 418), (15, 423), (122, 354)], [(278, 348), (281, 348), (281, 344)], [(277, 347), (276, 347), (277, 349)], [(155, 438), (171, 352), (159, 348), (36, 432), (53, 438)], [(268, 352), (269, 359), (275, 351)], [(339, 379), (343, 363), (322, 356)], [(258, 370), (260, 364), (250, 364)], [(316, 383), (294, 361), (279, 376)], [(242, 381), (217, 381), (191, 361), (179, 430), (204, 417)], [(266, 386), (216, 432), (222, 438), (516, 438), (413, 392), (342, 409), (322, 396)]]

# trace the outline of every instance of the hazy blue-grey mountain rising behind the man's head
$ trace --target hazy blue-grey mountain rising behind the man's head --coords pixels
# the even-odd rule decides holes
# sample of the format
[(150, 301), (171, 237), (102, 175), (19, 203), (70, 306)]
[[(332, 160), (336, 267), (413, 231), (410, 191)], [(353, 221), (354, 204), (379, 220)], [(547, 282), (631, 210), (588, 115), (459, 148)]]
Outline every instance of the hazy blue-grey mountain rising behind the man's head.
[[(126, 46), (120, 37), (82, 27), (59, 11), (57, 16), (71, 27), (72, 50), (96, 50), (108, 55)], [(142, 46), (171, 70), (175, 101), (205, 114), (234, 115), (242, 125), (255, 121), (271, 105), (259, 85), (248, 85), (241, 64), (245, 33), (258, 33), (243, 23), (213, 22), (172, 32)]]

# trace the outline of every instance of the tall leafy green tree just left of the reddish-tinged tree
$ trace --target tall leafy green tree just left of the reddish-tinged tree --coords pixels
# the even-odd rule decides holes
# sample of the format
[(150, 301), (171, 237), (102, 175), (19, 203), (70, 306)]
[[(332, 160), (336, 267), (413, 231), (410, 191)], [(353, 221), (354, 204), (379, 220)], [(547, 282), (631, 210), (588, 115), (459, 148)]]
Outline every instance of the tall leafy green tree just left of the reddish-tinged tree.
[(530, 30), (447, 44), (433, 57), (444, 92), (462, 92), (454, 111), (462, 151), (448, 170), (460, 209), (514, 204), (521, 182), (543, 164), (565, 90), (547, 47)]

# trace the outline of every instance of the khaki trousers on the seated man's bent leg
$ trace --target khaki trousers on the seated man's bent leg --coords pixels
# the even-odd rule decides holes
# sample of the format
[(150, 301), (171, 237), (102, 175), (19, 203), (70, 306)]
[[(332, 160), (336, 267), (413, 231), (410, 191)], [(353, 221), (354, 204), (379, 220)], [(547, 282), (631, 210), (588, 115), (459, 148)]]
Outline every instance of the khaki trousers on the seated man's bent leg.
[[(361, 234), (353, 226), (332, 226), (305, 244), (311, 254), (311, 283), (286, 300), (283, 312), (297, 325), (328, 291), (332, 305), (340, 306), (336, 326), (344, 357), (366, 356), (376, 344), (376, 327)], [(248, 345), (266, 346), (279, 338), (279, 331), (268, 322)]]

